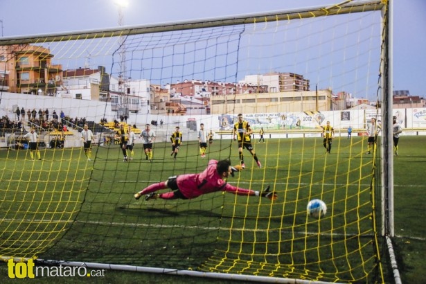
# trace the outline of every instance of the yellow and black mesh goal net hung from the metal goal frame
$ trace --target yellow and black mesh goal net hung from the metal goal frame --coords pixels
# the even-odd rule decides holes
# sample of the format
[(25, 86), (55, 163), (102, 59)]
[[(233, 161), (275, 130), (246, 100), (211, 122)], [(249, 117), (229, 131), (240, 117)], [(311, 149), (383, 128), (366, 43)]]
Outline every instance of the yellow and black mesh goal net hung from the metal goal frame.
[[(0, 256), (384, 282), (380, 133), (374, 143), (366, 135), (381, 120), (367, 100), (381, 100), (384, 8), (362, 1), (1, 39), (0, 112), (10, 123), (1, 126)], [(238, 114), (253, 131), (242, 155)], [(141, 138), (147, 123), (152, 148)], [(127, 150), (121, 127), (135, 134)], [(278, 199), (134, 198), (211, 159), (244, 163), (227, 182), (270, 186)], [(312, 199), (327, 206), (321, 218), (308, 214)]]

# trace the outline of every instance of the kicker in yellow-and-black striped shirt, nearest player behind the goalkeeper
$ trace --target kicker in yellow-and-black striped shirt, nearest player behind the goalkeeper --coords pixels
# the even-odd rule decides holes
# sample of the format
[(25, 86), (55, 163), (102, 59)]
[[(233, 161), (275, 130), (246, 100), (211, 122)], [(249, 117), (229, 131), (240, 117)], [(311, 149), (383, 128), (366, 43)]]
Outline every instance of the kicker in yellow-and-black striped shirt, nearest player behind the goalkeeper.
[(253, 146), (251, 145), (250, 135), (253, 133), (251, 130), (250, 124), (242, 119), (242, 114), (238, 114), (238, 121), (235, 125), (233, 125), (233, 140), (238, 139), (238, 155), (240, 157), (241, 168), (245, 168), (244, 164), (244, 155), (242, 154), (242, 150), (246, 148), (251, 156), (254, 157), (254, 160), (258, 164), (259, 168), (262, 168), (256, 153), (253, 150)]

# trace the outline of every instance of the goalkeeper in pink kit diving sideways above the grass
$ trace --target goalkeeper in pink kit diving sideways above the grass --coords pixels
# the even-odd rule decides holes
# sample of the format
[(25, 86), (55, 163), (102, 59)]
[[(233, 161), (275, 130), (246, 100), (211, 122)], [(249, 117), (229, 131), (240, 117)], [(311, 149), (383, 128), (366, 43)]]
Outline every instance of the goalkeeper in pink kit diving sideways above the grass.
[[(139, 199), (142, 195), (145, 200), (150, 199), (193, 199), (206, 193), (216, 191), (227, 191), (236, 195), (262, 196), (271, 200), (276, 200), (277, 195), (274, 191), (269, 192), (269, 186), (262, 193), (251, 189), (238, 188), (228, 184), (226, 179), (233, 172), (238, 172), (240, 165), (232, 167), (228, 159), (222, 161), (210, 160), (207, 168), (198, 174), (186, 174), (169, 177), (167, 181), (157, 184), (151, 184), (147, 188), (134, 194), (134, 198)], [(156, 193), (157, 190), (170, 188), (168, 193)]]

